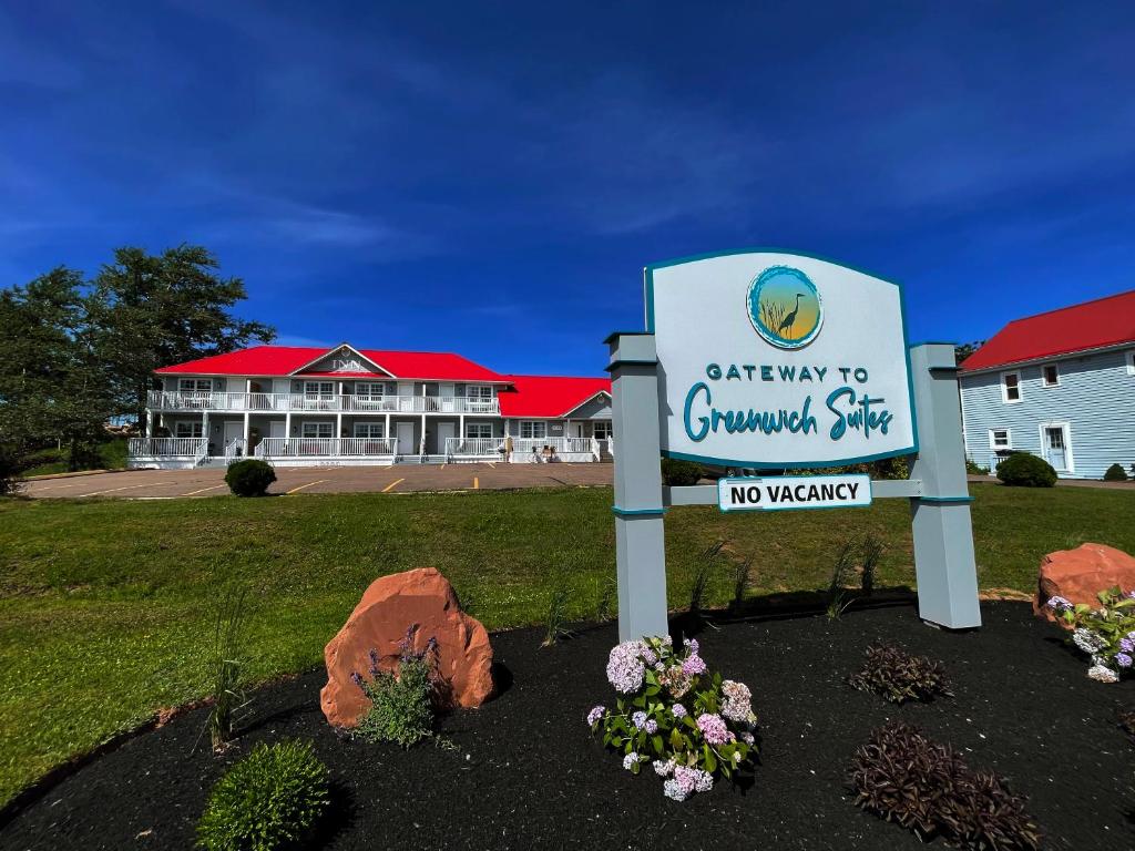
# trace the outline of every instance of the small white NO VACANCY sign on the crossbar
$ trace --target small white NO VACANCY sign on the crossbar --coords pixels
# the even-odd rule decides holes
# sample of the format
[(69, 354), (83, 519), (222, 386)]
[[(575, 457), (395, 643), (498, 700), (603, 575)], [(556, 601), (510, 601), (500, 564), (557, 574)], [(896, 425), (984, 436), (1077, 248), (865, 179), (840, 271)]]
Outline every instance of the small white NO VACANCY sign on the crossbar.
[(717, 480), (723, 512), (851, 508), (871, 505), (868, 475), (777, 475)]

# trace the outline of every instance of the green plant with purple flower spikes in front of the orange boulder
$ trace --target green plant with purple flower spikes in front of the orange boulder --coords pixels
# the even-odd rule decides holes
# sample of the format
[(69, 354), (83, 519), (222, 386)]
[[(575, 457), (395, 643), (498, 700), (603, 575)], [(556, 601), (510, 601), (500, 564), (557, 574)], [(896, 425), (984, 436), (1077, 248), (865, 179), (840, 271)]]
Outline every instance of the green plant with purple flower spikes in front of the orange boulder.
[(402, 639), (397, 674), (378, 668), (378, 654), (370, 651), (370, 680), (352, 679), (370, 700), (370, 709), (359, 719), (355, 735), (368, 742), (395, 742), (403, 748), (434, 734), (434, 707), (438, 700), (437, 641), (413, 649), (414, 629)]

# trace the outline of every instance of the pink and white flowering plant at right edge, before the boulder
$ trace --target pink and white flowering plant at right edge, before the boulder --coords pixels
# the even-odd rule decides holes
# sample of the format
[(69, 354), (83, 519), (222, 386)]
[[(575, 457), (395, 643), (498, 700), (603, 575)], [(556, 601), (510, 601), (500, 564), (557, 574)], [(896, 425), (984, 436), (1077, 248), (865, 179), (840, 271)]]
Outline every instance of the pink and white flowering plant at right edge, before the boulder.
[(1135, 591), (1125, 595), (1116, 587), (1100, 591), (1096, 597), (1099, 608), (1073, 604), (1063, 597), (1053, 597), (1046, 605), (1073, 627), (1069, 640), (1092, 657), (1087, 675), (1113, 683), (1135, 662)]

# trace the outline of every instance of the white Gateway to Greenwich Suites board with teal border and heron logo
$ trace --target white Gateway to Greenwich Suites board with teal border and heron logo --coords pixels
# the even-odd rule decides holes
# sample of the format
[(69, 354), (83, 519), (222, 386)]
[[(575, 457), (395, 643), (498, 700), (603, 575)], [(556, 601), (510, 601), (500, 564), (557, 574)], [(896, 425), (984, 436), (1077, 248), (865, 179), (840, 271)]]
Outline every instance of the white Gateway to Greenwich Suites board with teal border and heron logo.
[(647, 267), (646, 309), (663, 455), (791, 469), (917, 452), (897, 284), (741, 252)]

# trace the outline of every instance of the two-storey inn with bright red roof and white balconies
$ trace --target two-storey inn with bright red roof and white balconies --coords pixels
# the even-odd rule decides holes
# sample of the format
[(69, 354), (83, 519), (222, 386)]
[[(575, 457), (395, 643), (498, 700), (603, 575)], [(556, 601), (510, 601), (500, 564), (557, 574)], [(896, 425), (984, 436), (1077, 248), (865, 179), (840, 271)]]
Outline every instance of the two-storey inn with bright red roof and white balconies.
[(505, 376), (456, 354), (346, 343), (159, 369), (145, 427), (132, 467), (605, 462), (613, 450), (609, 379)]

